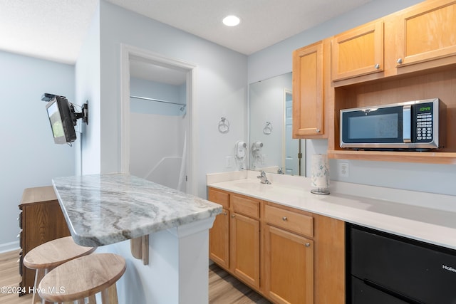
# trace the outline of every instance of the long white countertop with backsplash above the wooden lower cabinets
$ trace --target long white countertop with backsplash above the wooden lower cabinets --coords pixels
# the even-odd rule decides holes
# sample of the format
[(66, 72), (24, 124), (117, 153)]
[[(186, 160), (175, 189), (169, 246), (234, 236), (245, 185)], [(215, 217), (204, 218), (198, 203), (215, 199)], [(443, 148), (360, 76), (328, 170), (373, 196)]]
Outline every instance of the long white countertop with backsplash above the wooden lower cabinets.
[(310, 179), (258, 172), (207, 174), (207, 186), (290, 206), (352, 224), (456, 249), (456, 196), (331, 182), (311, 194)]

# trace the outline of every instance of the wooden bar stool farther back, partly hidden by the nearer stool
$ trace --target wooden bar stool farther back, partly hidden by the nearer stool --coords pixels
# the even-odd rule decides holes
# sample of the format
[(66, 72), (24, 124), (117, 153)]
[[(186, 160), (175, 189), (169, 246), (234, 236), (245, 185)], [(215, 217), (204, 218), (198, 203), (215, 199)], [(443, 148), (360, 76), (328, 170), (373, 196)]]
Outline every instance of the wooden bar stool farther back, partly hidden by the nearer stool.
[[(73, 241), (71, 236), (48, 241), (28, 251), (24, 257), (24, 265), (27, 268), (36, 269), (35, 284), (37, 288), (41, 279), (53, 268), (71, 261), (73, 258), (86, 256), (96, 247), (79, 246)], [(33, 293), (32, 303), (36, 301), (36, 292)]]

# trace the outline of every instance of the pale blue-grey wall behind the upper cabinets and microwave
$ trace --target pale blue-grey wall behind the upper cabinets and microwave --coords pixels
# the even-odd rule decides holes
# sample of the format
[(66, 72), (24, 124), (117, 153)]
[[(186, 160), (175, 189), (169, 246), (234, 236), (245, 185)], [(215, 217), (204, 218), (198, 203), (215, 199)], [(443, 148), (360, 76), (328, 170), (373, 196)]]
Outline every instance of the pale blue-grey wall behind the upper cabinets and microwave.
[[(291, 52), (296, 48), (301, 48), (419, 2), (421, 0), (374, 0), (347, 14), (254, 53), (249, 56), (248, 81), (254, 83), (291, 71)], [(327, 140), (307, 140), (306, 142), (306, 162), (308, 164), (311, 154), (325, 153), (328, 147)], [(456, 195), (456, 187), (453, 185), (456, 180), (455, 165), (350, 160), (343, 161), (348, 162), (350, 166), (350, 177), (339, 177), (337, 172), (339, 162), (341, 161), (331, 159), (330, 171), (333, 180)], [(310, 166), (307, 168), (307, 175), (309, 176)]]

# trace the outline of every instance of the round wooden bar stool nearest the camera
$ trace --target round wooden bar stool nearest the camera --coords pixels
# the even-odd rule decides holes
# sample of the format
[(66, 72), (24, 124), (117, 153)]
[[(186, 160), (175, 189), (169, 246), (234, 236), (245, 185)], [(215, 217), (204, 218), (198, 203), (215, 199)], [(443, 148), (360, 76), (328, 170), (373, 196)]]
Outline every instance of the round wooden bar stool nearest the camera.
[(38, 286), (46, 301), (95, 303), (95, 293), (101, 292), (103, 304), (118, 304), (115, 283), (125, 273), (125, 258), (113, 253), (94, 253), (68, 261), (49, 271)]

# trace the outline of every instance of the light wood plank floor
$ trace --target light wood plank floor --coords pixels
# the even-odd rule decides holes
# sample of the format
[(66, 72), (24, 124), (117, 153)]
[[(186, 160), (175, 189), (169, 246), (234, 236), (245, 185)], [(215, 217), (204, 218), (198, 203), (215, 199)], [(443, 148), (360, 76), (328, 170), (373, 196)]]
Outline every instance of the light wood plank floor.
[[(15, 288), (19, 285), (19, 251), (0, 254), (0, 287)], [(16, 294), (0, 292), (1, 304), (30, 304), (31, 295), (19, 297)], [(230, 276), (219, 266), (209, 266), (209, 303), (210, 304), (269, 304), (254, 290)]]

